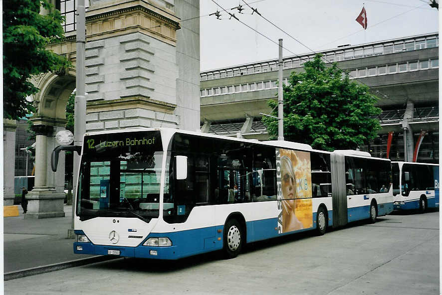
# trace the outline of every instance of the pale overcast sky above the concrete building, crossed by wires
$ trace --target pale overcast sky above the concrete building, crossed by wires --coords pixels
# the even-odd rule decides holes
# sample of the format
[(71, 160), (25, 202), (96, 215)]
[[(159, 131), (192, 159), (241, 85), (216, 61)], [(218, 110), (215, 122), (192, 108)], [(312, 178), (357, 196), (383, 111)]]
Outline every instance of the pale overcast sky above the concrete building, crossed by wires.
[[(244, 23), (283, 47), (311, 52), (251, 10), (239, 14), (232, 7), (242, 0), (215, 0)], [(439, 31), (439, 12), (425, 0), (245, 0), (253, 8), (314, 51), (338, 45), (358, 45)], [(363, 4), (367, 30), (356, 22)], [(419, 8), (415, 8), (419, 7)], [(248, 7), (247, 7), (248, 8)], [(221, 20), (215, 15), (221, 12)], [(211, 70), (278, 57), (278, 46), (228, 15), (212, 0), (200, 1), (201, 70)], [(283, 50), (283, 56), (294, 55)]]

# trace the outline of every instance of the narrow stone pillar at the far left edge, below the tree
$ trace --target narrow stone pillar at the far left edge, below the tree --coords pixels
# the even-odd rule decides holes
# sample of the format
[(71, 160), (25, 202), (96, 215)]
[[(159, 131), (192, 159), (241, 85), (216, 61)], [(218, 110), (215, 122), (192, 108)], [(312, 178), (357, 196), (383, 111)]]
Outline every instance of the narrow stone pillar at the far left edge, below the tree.
[[(15, 120), (3, 119), (3, 205), (14, 204)], [(21, 189), (20, 189), (21, 192)]]

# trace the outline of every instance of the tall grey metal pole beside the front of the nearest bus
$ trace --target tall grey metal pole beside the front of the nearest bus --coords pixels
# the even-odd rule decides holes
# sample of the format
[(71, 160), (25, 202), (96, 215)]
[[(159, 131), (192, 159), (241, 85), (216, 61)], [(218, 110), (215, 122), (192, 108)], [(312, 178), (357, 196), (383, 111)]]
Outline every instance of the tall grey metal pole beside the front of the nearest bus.
[[(74, 105), (74, 145), (81, 146), (83, 135), (86, 132), (86, 98), (84, 93), (84, 51), (86, 46), (86, 12), (84, 0), (77, 1), (77, 42), (76, 42), (76, 92)], [(78, 171), (80, 169), (80, 156), (74, 152), (73, 165), (73, 195), (72, 195), (72, 220), (68, 238), (74, 238), (75, 201), (77, 196)]]

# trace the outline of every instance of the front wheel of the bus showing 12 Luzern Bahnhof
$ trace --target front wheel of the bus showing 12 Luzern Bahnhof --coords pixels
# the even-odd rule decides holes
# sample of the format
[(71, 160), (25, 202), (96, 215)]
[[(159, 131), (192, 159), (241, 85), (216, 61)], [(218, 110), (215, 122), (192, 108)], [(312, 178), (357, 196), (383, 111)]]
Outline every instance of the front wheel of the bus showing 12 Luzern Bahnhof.
[(235, 258), (241, 252), (242, 227), (236, 219), (229, 219), (224, 225), (223, 252), (226, 259)]

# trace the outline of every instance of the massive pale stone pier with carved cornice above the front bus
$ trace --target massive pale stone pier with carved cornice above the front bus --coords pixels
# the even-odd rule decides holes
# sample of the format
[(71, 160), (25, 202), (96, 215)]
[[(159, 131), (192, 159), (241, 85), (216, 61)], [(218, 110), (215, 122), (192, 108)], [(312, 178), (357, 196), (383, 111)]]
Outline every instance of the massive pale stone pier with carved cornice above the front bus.
[[(176, 2), (185, 1), (91, 1), (86, 12), (86, 131), (180, 127), (178, 68), (191, 64), (177, 65)], [(199, 107), (199, 95), (197, 100)]]

